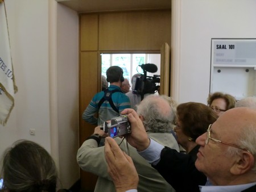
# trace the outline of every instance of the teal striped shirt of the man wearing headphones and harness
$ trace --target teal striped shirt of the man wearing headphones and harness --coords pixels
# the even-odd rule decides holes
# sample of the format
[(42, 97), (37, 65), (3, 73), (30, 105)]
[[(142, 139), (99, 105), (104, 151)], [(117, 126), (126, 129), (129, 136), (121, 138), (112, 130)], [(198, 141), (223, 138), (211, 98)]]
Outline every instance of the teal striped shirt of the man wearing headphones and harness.
[[(118, 89), (121, 91), (120, 87), (115, 85), (110, 85), (108, 89)], [(98, 103), (101, 101), (102, 97), (104, 97), (104, 91), (94, 95), (92, 101), (90, 101), (89, 105), (82, 114), (82, 119), (91, 124), (101, 125), (106, 120), (120, 116), (120, 112), (125, 108), (131, 108), (129, 97), (127, 97), (124, 93), (116, 92), (112, 94), (112, 101), (115, 107), (117, 107), (119, 113), (113, 110), (108, 101), (104, 101), (100, 107), (100, 110), (98, 110)], [(99, 118), (94, 116), (96, 112), (98, 112)]]

